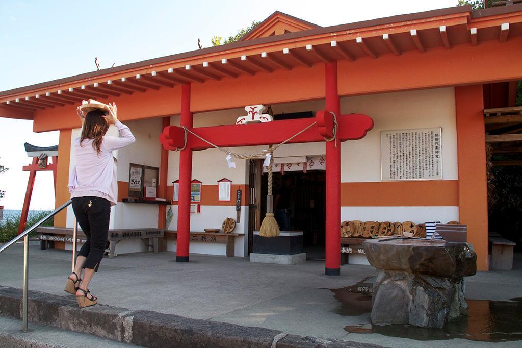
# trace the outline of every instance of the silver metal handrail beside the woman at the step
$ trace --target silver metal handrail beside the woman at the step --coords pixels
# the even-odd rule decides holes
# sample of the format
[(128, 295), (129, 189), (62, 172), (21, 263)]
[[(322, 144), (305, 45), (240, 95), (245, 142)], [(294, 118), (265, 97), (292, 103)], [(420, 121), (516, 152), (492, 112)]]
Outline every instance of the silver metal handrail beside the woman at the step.
[[(48, 221), (51, 217), (54, 215), (60, 213), (62, 210), (64, 210), (68, 205), (73, 203), (72, 200), (68, 200), (64, 204), (62, 204), (60, 207), (56, 208), (54, 211), (46, 215), (44, 218), (42, 218), (39, 222), (32, 225), (25, 231), (23, 231), (21, 234), (16, 236), (15, 238), (11, 239), (7, 243), (5, 243), (3, 246), (0, 247), (0, 253), (10, 246), (12, 246), (14, 243), (19, 241), (23, 238), (23, 317), (22, 317), (22, 330), (27, 331), (27, 308), (28, 308), (28, 281), (29, 281), (29, 234), (40, 227), (43, 223)], [(76, 235), (78, 233), (78, 224), (76, 221), (76, 217), (74, 218), (74, 228), (73, 228), (73, 271), (76, 265)]]

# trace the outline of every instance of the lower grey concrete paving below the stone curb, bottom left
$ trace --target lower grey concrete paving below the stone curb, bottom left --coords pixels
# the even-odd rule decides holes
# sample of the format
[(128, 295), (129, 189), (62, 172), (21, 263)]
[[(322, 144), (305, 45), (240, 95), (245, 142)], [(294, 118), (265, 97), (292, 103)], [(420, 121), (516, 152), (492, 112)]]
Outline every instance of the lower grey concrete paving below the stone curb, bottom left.
[(21, 321), (0, 317), (0, 347), (2, 348), (125, 348), (137, 347), (97, 336), (31, 323), (29, 331), (21, 330)]

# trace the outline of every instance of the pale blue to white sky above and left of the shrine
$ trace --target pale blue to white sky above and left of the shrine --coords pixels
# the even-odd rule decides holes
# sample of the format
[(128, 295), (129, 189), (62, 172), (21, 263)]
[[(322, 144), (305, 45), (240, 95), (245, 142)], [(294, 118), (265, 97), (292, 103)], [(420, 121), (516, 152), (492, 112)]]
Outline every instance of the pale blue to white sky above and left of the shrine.
[[(197, 39), (228, 37), (275, 10), (320, 26), (455, 6), (457, 0), (344, 1), (10, 1), (0, 3), (0, 91), (96, 69), (197, 49)], [(72, 117), (75, 117), (72, 115)], [(29, 163), (23, 143), (50, 146), (57, 132), (33, 133), (32, 121), (0, 118), (0, 205), (21, 208)], [(40, 172), (31, 208), (54, 207), (52, 175)]]

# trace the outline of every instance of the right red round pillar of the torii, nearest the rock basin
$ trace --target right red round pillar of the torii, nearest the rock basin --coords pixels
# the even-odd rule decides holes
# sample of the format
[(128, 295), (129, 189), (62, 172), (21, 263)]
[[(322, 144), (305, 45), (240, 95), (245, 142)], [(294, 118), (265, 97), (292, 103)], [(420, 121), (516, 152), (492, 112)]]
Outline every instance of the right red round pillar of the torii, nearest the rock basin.
[[(341, 113), (337, 61), (325, 63), (326, 110)], [(341, 144), (326, 142), (326, 275), (341, 274)]]

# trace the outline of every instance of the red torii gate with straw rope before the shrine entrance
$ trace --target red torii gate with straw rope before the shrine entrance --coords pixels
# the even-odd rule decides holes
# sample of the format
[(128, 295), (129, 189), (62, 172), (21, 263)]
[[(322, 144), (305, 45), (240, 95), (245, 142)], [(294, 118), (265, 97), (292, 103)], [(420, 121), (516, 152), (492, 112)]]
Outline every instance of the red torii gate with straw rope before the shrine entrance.
[[(325, 274), (340, 274), (341, 223), (341, 147), (339, 142), (357, 140), (373, 127), (373, 120), (363, 114), (340, 114), (337, 92), (337, 62), (325, 63), (326, 110), (318, 111), (317, 123), (288, 143), (325, 141), (334, 136), (334, 115), (337, 115), (336, 140), (326, 143), (326, 262)], [(192, 180), (192, 152), (212, 148), (183, 127), (219, 147), (238, 147), (278, 144), (310, 125), (310, 119), (295, 119), (254, 124), (234, 124), (193, 128), (194, 115), (190, 111), (191, 85), (182, 86), (181, 126), (167, 126), (160, 135), (165, 149), (180, 150), (179, 201), (177, 216), (176, 261), (188, 262), (190, 231), (190, 190)], [(337, 146), (336, 146), (337, 144)]]

